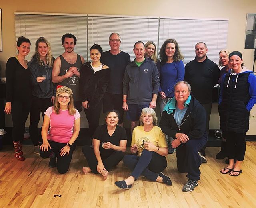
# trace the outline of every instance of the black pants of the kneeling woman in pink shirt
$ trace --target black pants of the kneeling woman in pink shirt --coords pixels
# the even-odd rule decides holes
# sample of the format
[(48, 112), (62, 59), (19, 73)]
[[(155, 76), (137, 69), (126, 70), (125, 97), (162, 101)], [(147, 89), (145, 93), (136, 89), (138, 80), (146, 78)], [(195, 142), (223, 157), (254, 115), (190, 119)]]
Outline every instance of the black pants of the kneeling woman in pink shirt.
[(48, 148), (48, 151), (40, 150), (40, 156), (42, 158), (48, 158), (52, 152), (54, 152), (55, 157), (57, 157), (57, 170), (60, 174), (64, 174), (68, 171), (72, 155), (73, 155), (73, 147), (70, 149), (69, 154), (65, 154), (64, 156), (60, 156), (60, 150), (62, 147), (66, 146), (66, 143), (59, 143), (55, 141), (48, 140), (52, 149)]

